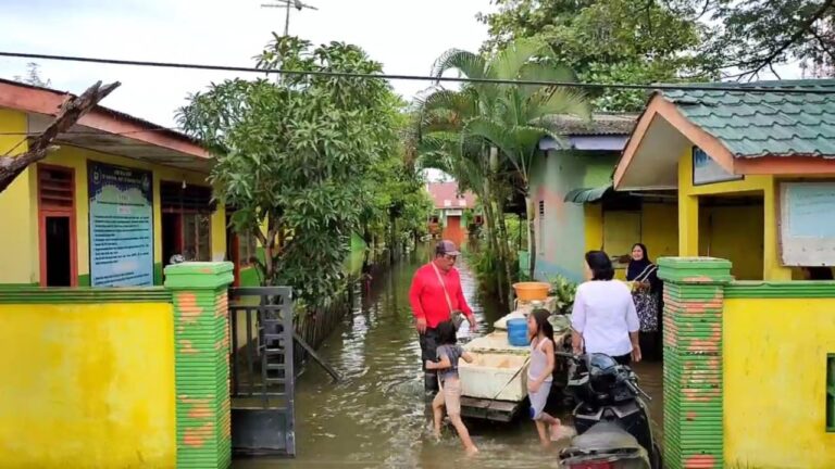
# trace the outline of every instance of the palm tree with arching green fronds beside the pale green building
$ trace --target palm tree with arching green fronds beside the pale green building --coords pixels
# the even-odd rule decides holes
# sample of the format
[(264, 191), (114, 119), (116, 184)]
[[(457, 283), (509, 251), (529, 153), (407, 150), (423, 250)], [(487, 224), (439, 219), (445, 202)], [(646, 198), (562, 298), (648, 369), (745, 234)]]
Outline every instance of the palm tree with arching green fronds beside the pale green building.
[[(520, 39), (511, 42), (491, 58), (485, 59), (472, 52), (450, 50), (435, 63), (433, 74), (443, 76), (458, 71), (469, 78), (527, 80), (547, 83), (575, 81), (574, 73), (553, 63), (550, 46), (537, 39)], [(564, 87), (548, 85), (503, 85), (494, 83), (469, 84), (461, 91), (439, 89), (422, 101), (426, 131), (457, 131), (462, 147), (473, 147), (473, 141), (486, 142), (478, 153), (481, 168), (485, 170), (484, 195), (489, 198), (490, 180), (509, 166), (513, 170), (514, 187), (525, 198), (528, 225), (528, 275), (536, 270), (536, 237), (534, 226), (536, 211), (531, 197), (531, 167), (544, 137), (558, 142), (544, 124), (544, 117), (572, 114), (583, 118), (590, 116), (585, 97)], [(462, 152), (465, 153), (465, 152)], [(501, 205), (501, 201), (500, 205)], [(496, 217), (503, 214), (498, 213)], [(507, 239), (500, 250), (509, 250)]]

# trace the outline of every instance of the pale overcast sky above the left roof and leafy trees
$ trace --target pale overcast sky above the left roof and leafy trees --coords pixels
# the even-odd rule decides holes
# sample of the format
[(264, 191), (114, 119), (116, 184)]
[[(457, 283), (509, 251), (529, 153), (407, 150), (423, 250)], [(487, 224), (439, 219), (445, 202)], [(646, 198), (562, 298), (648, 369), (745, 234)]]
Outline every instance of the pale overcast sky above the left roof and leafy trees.
[[(284, 31), (272, 0), (0, 0), (0, 49), (159, 62), (253, 66), (252, 56)], [(387, 73), (426, 75), (449, 48), (476, 50), (487, 28), (475, 20), (489, 0), (304, 0), (319, 11), (292, 11), (290, 34), (314, 43), (359, 45)], [(24, 59), (0, 58), (0, 77), (23, 75)], [(39, 61), (51, 87), (76, 93), (96, 80), (122, 81), (102, 104), (174, 125), (189, 92), (234, 77), (203, 71)], [(396, 81), (406, 98), (427, 86)]]

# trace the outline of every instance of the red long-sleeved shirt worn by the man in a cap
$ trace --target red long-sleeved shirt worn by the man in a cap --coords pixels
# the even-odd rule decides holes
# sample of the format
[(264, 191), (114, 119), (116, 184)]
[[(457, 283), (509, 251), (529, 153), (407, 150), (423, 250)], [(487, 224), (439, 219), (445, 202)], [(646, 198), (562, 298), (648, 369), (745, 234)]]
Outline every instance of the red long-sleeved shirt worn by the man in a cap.
[[(444, 284), (449, 294), (449, 302), (452, 304), (452, 310), (460, 310), (468, 318), (473, 316), (473, 310), (464, 300), (464, 292), (461, 289), (461, 277), (458, 269), (452, 267), (448, 272), (438, 269)], [(426, 326), (436, 328), (438, 324), (450, 319), (449, 305), (444, 295), (444, 287), (435, 274), (432, 263), (418, 269), (412, 279), (412, 288), (409, 289), (409, 303), (412, 305), (412, 314), (415, 318), (426, 318)]]

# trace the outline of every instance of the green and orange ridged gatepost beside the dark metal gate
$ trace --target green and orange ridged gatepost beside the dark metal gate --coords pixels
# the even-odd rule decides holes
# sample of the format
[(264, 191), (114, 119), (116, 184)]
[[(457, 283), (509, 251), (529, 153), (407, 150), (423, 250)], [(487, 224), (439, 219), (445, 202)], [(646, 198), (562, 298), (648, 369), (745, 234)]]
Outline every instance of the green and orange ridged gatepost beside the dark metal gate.
[(232, 263), (165, 267), (174, 302), (177, 468), (232, 465), (229, 313)]

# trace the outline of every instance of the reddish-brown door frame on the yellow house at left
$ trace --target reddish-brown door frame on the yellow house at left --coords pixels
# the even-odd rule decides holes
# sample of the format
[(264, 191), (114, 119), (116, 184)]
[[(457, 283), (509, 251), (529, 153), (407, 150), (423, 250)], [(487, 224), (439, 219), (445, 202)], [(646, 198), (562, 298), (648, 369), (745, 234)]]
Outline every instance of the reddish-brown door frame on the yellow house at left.
[[(58, 170), (70, 175), (70, 187), (73, 194), (71, 207), (43, 206), (40, 198), (40, 173), (45, 169)], [(40, 264), (40, 286), (47, 286), (47, 217), (70, 218), (70, 287), (78, 287), (78, 232), (76, 230), (76, 191), (75, 169), (66, 166), (38, 164), (37, 173), (38, 198), (38, 258)], [(92, 280), (92, 279), (90, 279)]]

